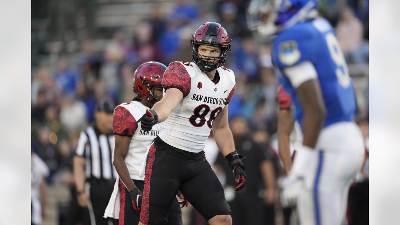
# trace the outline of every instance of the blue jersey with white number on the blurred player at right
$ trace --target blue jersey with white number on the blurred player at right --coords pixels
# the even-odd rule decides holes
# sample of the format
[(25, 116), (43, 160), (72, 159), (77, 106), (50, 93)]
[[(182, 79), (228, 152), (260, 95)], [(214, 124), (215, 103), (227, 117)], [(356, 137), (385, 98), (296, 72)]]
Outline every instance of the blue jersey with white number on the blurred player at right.
[(334, 30), (323, 18), (299, 22), (278, 33), (273, 42), (272, 62), (276, 76), (292, 95), (294, 116), (302, 125), (303, 110), (285, 68), (311, 62), (318, 74), (327, 115), (324, 127), (341, 121), (352, 121), (356, 98), (344, 55)]

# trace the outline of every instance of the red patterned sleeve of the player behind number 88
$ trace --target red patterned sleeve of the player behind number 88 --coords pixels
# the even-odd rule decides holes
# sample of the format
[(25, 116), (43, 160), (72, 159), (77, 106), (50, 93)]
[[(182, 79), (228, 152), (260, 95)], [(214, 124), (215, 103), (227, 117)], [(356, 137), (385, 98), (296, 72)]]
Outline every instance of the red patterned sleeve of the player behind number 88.
[(136, 119), (130, 114), (129, 110), (122, 106), (117, 106), (114, 110), (114, 120), (112, 121), (114, 135), (132, 137), (137, 128)]

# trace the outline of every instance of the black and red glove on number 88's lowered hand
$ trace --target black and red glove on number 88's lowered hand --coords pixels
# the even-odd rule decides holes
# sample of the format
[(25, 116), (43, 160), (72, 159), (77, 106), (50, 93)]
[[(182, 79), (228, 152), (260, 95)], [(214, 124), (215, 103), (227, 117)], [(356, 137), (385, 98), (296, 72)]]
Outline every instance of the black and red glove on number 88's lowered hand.
[(244, 165), (242, 163), (242, 159), (246, 159), (246, 157), (234, 151), (233, 153), (226, 155), (225, 159), (228, 160), (229, 167), (232, 170), (235, 181), (238, 183), (235, 191), (239, 191), (244, 187), (244, 183), (246, 181), (246, 174), (244, 173)]

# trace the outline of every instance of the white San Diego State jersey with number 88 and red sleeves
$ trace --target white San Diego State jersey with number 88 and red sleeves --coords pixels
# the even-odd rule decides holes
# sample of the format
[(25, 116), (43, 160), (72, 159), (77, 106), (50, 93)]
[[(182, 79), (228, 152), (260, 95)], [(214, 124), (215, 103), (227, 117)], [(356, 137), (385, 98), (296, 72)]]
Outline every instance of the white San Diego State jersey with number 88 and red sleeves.
[(223, 66), (216, 70), (214, 82), (194, 62), (172, 62), (164, 72), (164, 90), (178, 88), (183, 93), (178, 106), (160, 123), (158, 136), (168, 145), (194, 153), (204, 149), (213, 121), (236, 88), (232, 70)]

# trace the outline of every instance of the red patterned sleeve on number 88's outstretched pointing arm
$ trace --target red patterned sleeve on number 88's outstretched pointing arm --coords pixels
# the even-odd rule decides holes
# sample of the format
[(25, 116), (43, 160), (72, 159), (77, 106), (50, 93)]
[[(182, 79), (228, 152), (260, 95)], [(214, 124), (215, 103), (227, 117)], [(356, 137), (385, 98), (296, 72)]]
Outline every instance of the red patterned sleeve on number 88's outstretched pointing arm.
[(162, 78), (162, 87), (178, 88), (183, 93), (183, 97), (188, 96), (190, 92), (190, 75), (185, 66), (180, 62), (172, 62), (164, 72)]

